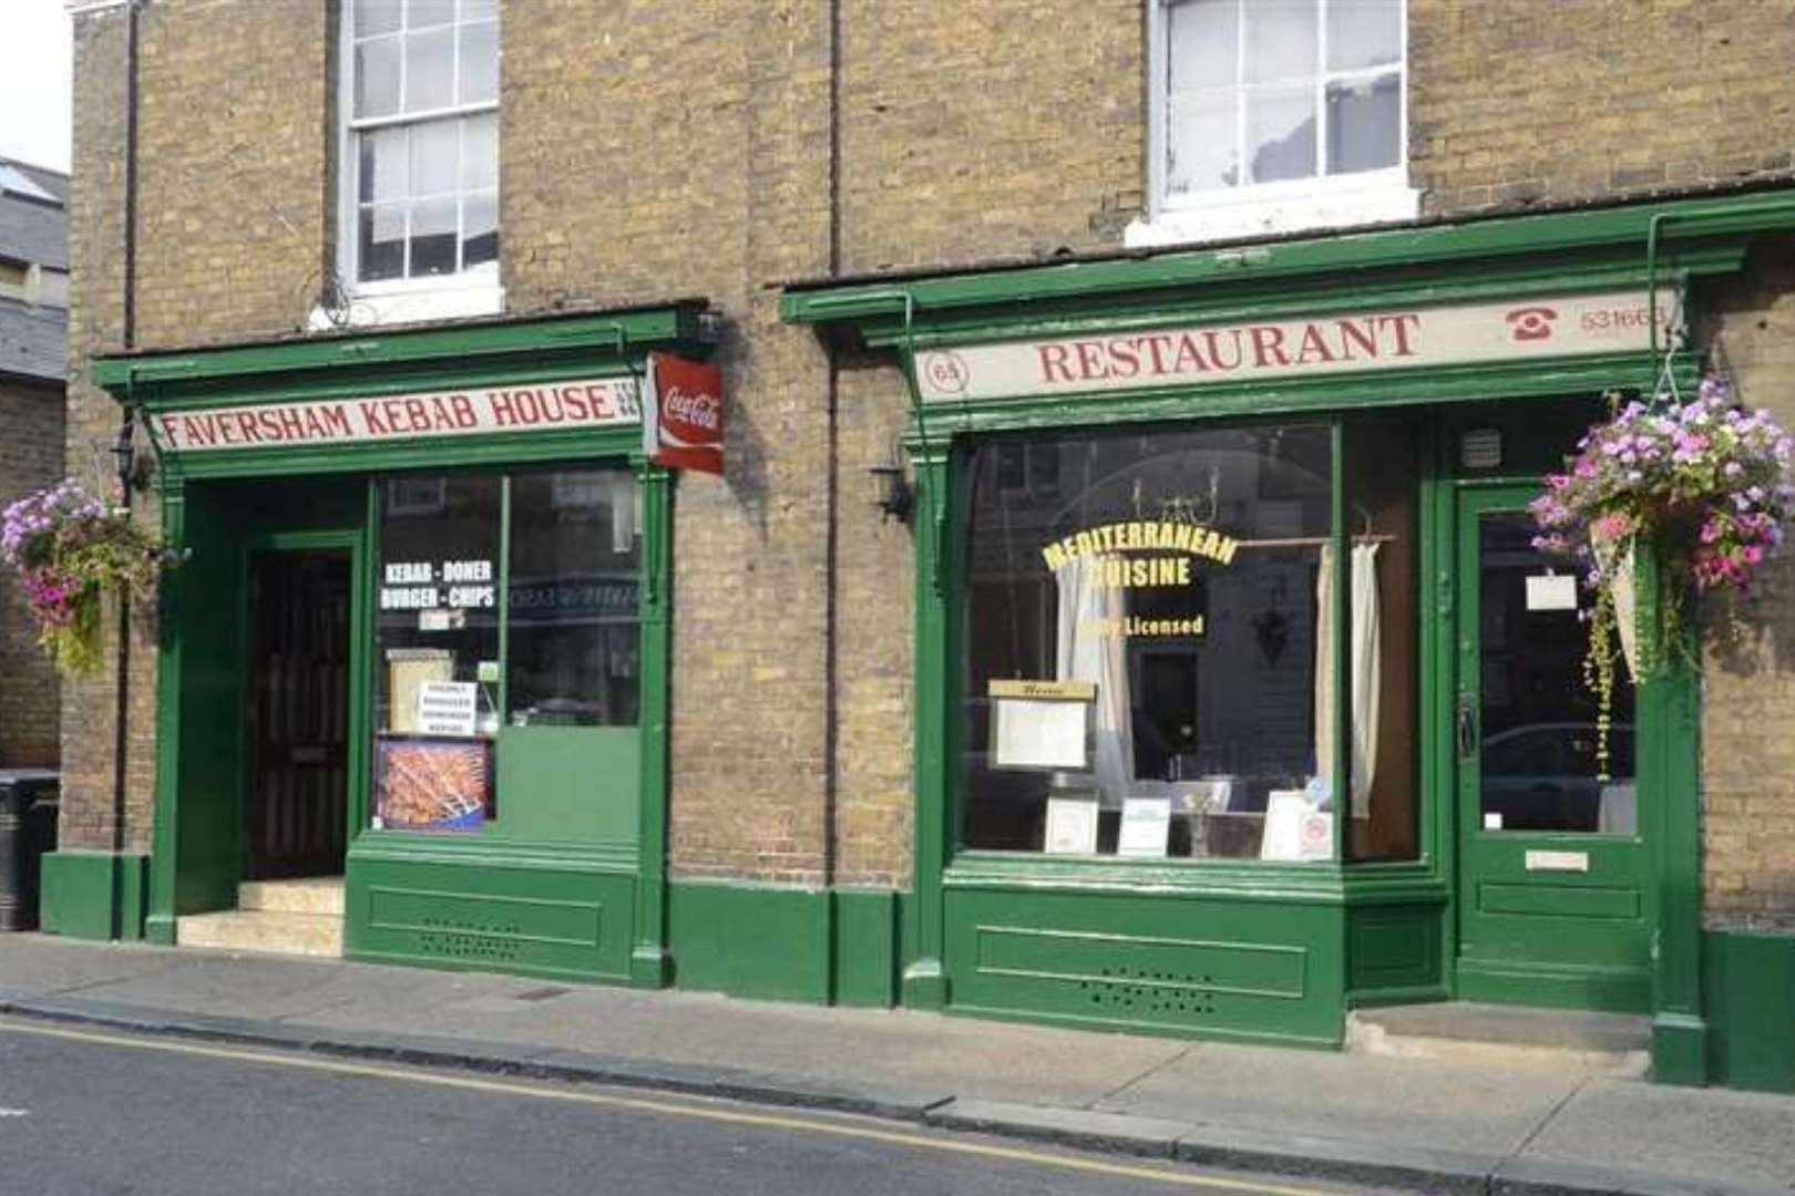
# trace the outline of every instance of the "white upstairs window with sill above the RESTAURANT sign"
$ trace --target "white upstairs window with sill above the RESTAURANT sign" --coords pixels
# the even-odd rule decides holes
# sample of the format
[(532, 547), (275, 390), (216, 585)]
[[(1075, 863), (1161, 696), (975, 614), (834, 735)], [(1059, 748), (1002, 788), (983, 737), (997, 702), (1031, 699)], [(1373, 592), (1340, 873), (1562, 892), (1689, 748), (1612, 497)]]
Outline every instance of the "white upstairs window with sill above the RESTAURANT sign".
[(1149, 0), (1152, 201), (1131, 240), (1413, 219), (1405, 0)]

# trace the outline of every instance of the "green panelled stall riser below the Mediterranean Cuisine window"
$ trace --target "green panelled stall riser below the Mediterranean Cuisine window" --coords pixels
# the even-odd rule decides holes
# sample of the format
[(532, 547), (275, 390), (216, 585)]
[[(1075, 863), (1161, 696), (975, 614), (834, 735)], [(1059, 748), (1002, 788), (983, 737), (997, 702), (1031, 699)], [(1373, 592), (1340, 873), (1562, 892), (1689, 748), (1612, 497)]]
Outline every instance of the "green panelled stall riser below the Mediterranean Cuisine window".
[(1341, 907), (1239, 895), (950, 889), (950, 1008), (1337, 1045)]

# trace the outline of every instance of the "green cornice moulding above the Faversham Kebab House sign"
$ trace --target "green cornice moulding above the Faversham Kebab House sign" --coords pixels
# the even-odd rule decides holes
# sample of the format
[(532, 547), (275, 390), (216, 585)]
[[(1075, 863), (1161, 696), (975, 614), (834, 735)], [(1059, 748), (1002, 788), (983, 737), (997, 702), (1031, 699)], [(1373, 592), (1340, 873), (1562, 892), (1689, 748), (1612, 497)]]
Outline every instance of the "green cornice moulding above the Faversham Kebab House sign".
[[(183, 351), (95, 357), (88, 375), (117, 398), (158, 411), (188, 405), (206, 393), (217, 402), (330, 396), (370, 378), (407, 380), (413, 371), (456, 377), (503, 373), (551, 377), (565, 369), (616, 366), (621, 373), (650, 350), (705, 357), (707, 305), (680, 299), (659, 307), (483, 321), (352, 337), (307, 337)], [(224, 393), (228, 391), (228, 394)]]

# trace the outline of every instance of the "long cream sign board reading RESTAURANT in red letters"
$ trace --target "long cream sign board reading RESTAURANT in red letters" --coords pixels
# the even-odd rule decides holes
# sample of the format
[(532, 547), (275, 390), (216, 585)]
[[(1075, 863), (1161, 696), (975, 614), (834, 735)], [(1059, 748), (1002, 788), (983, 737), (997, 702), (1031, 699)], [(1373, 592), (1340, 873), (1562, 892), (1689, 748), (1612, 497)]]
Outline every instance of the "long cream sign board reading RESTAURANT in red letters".
[[(966, 344), (917, 353), (932, 403), (1646, 351), (1644, 290)], [(1675, 342), (1677, 298), (1659, 298)]]

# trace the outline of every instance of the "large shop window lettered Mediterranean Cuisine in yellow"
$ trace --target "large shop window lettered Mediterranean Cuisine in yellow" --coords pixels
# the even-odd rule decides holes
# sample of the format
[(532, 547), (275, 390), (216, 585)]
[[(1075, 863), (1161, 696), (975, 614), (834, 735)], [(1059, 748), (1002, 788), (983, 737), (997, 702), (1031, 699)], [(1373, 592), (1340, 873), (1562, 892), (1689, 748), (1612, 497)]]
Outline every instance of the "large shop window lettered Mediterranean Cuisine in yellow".
[(1032, 439), (1050, 491), (962, 457), (962, 846), (1334, 857), (1332, 438)]

